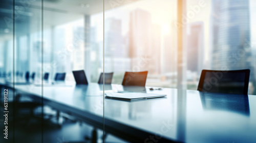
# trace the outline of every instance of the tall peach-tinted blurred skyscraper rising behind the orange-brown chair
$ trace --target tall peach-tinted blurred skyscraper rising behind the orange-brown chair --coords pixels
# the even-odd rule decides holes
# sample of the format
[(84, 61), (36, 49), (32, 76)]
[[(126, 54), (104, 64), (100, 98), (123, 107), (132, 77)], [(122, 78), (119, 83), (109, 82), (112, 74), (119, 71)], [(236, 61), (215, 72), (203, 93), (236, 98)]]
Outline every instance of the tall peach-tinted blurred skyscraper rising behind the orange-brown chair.
[(131, 58), (132, 70), (148, 70), (150, 74), (155, 73), (152, 67), (153, 45), (152, 45), (152, 17), (151, 14), (142, 9), (136, 9), (130, 13), (129, 32), (129, 57)]

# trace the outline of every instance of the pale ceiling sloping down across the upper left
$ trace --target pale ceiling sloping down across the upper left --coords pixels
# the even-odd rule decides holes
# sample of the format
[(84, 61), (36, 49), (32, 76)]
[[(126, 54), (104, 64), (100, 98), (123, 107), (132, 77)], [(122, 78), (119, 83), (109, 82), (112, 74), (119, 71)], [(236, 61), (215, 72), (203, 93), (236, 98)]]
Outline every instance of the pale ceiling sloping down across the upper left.
[[(105, 10), (114, 9), (136, 1), (139, 0), (105, 0)], [(12, 1), (1, 0), (0, 37), (2, 40), (12, 37), (12, 7)], [(43, 18), (42, 8), (44, 11)], [(44, 28), (49, 28), (82, 18), (84, 15), (100, 12), (103, 12), (103, 0), (44, 0), (43, 7), (41, 0), (16, 0), (15, 34), (38, 31), (41, 28), (42, 22)]]

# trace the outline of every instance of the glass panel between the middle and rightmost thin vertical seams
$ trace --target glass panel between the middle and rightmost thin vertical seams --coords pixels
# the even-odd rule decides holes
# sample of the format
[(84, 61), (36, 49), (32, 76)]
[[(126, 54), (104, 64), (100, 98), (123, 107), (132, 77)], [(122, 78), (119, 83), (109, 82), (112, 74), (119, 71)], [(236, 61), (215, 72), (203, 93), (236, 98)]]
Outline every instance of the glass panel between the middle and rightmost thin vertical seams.
[[(97, 84), (103, 72), (102, 39), (102, 0), (44, 1), (44, 74), (49, 74), (44, 96), (54, 101), (44, 104), (44, 114), (50, 116), (44, 122), (44, 142), (96, 141), (102, 136), (103, 92)], [(46, 125), (49, 121), (61, 126), (58, 133), (46, 131), (55, 130)]]

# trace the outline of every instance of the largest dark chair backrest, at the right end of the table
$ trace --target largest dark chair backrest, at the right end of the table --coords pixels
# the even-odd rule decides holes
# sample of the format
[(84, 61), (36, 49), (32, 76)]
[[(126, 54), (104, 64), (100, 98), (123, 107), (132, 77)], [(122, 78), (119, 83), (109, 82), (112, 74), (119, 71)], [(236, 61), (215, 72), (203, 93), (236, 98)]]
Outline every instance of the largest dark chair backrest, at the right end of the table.
[(250, 69), (202, 70), (198, 84), (199, 91), (248, 94)]

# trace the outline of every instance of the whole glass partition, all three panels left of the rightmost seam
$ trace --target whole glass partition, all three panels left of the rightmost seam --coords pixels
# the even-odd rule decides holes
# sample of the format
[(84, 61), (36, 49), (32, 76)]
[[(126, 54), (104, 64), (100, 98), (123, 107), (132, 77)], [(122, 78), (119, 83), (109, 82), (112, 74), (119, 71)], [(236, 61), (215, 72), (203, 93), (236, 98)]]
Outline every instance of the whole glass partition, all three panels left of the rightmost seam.
[[(0, 4), (0, 109), (8, 87), (8, 141), (96, 142), (103, 130), (103, 1), (12, 2)], [(74, 70), (82, 70), (78, 80)]]

